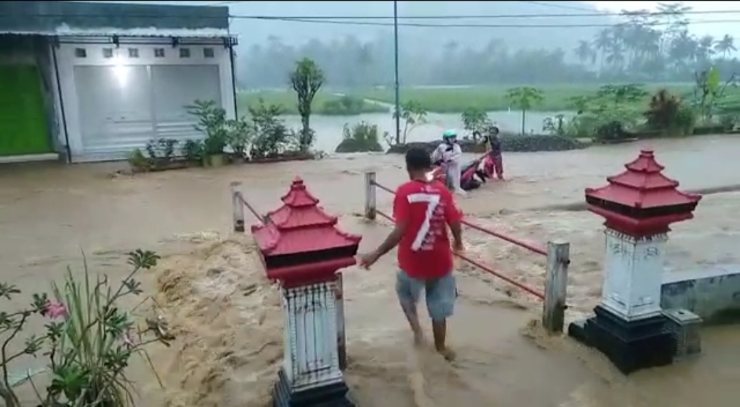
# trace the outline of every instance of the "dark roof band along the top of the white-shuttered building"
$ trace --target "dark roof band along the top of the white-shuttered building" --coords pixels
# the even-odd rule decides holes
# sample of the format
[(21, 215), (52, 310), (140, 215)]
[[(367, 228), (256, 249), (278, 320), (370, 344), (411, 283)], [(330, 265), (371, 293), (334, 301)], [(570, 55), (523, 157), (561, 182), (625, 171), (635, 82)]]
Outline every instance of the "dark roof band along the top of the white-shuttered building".
[(41, 36), (228, 36), (229, 7), (0, 1), (0, 33)]

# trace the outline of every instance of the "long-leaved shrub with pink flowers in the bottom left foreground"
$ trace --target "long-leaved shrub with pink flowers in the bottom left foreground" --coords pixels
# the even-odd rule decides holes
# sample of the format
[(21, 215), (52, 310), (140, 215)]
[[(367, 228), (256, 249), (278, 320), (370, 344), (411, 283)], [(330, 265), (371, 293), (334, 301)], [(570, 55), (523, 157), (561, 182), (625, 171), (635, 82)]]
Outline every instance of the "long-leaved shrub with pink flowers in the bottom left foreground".
[[(41, 406), (133, 405), (135, 389), (126, 374), (130, 357), (140, 354), (149, 361), (144, 351), (147, 343), (159, 341), (169, 346), (169, 340), (174, 338), (158, 318), (147, 320), (145, 328), (137, 328), (130, 313), (119, 308), (118, 300), (141, 294), (140, 283), (134, 277), (141, 269), (151, 269), (158, 259), (154, 252), (136, 250), (129, 253), (132, 271), (117, 288), (109, 286), (105, 276), (93, 278), (87, 264), (81, 279), (68, 269), (64, 284), (52, 285), (51, 296), (34, 294), (31, 305), (25, 309), (0, 311), (0, 335), (4, 336), (0, 397), (5, 406), (20, 406), (14, 391), (16, 386), (27, 381), (33, 385), (31, 373), (13, 382), (10, 380), (13, 377), (9, 373), (10, 363), (24, 354), (48, 358), (45, 370), (49, 371), (51, 380), (46, 394), (38, 393), (41, 387), (33, 385)], [(0, 297), (13, 299), (19, 294), (21, 290), (16, 286), (0, 283)], [(7, 306), (2, 308), (7, 309)], [(31, 334), (19, 351), (7, 352), (7, 343), (23, 332), (32, 317), (48, 319), (45, 334)], [(142, 339), (147, 334), (148, 339)]]

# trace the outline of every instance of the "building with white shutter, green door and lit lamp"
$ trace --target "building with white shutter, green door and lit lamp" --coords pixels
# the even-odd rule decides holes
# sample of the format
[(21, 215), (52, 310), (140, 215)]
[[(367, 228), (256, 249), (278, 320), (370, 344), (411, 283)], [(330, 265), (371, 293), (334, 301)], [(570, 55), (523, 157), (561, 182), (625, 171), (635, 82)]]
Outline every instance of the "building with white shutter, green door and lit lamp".
[(228, 7), (0, 1), (0, 161), (199, 137), (186, 104), (236, 115), (235, 44)]

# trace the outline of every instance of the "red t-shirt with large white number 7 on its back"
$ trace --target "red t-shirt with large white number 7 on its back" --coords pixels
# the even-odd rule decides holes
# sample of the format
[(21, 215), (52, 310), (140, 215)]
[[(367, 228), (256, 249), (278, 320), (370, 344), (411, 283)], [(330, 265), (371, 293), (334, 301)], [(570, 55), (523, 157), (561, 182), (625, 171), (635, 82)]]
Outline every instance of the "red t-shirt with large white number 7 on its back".
[(409, 181), (396, 189), (393, 201), (396, 221), (406, 221), (398, 243), (398, 265), (410, 277), (442, 277), (452, 271), (447, 225), (459, 222), (451, 192), (440, 181)]

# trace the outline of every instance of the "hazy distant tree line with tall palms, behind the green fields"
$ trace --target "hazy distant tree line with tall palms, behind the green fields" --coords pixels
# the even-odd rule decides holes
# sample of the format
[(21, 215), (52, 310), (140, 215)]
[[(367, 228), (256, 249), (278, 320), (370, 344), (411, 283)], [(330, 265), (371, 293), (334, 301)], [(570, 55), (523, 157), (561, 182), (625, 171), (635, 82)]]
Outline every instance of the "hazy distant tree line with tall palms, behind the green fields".
[[(688, 30), (690, 7), (682, 3), (659, 7), (653, 14), (624, 12), (621, 23), (584, 38), (573, 50), (511, 50), (499, 38), (477, 48), (450, 41), (437, 49), (434, 45), (404, 49), (402, 37), (400, 78), (406, 85), (663, 82), (691, 81), (694, 72), (710, 66), (727, 74), (740, 71), (732, 36), (694, 36)], [(306, 57), (323, 67), (329, 86), (387, 86), (394, 78), (389, 33), (371, 41), (354, 36), (310, 39), (300, 46), (272, 36), (266, 44), (240, 50), (240, 86), (284, 87), (295, 61)]]

